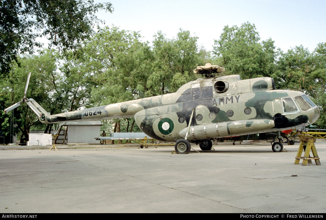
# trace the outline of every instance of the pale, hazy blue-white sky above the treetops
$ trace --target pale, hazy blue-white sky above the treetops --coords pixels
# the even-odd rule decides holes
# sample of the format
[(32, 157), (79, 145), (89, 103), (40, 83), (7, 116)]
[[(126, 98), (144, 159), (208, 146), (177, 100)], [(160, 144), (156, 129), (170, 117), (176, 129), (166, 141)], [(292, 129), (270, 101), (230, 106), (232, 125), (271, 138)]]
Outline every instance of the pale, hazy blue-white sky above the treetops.
[[(94, 2), (104, 2), (95, 0)], [(179, 29), (199, 37), (198, 46), (213, 50), (223, 28), (244, 22), (255, 24), (260, 40), (271, 38), (287, 52), (302, 45), (313, 52), (326, 42), (326, 0), (108, 0), (113, 13), (98, 12), (102, 26), (140, 31), (143, 41), (152, 42), (161, 31), (177, 37)]]

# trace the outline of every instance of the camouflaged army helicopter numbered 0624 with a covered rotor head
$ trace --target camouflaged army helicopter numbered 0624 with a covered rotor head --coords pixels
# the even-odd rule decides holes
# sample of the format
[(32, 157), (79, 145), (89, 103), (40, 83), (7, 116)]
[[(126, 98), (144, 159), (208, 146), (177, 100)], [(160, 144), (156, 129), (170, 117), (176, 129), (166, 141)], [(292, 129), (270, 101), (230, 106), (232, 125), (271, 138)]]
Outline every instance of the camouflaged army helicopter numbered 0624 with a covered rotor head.
[(203, 78), (182, 85), (175, 93), (125, 101), (50, 115), (34, 99), (25, 102), (41, 123), (89, 121), (133, 117), (142, 132), (165, 142), (175, 142), (177, 154), (188, 154), (191, 143), (212, 149), (212, 140), (230, 136), (277, 132), (274, 152), (283, 150), (282, 130), (294, 130), (319, 118), (319, 108), (303, 92), (276, 90), (272, 78), (241, 80), (240, 75), (215, 77), (224, 67), (206, 64), (194, 73)]

